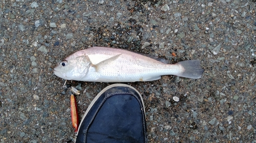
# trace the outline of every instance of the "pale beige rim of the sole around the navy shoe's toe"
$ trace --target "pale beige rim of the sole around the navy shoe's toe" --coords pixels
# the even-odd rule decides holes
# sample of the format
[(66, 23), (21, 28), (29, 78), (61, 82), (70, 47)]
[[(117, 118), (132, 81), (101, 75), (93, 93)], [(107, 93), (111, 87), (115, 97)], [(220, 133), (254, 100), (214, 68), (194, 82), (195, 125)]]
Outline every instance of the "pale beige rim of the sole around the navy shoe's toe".
[[(137, 92), (137, 94), (140, 96), (140, 100), (142, 101), (142, 105), (143, 105), (143, 110), (144, 110), (144, 116), (146, 117), (145, 115), (145, 105), (144, 105), (144, 101), (143, 101), (143, 98), (141, 96), (141, 94), (134, 88), (132, 87), (131, 85), (127, 85), (127, 84), (122, 84), (122, 83), (115, 83), (115, 84), (111, 84), (109, 85), (108, 87), (105, 87), (102, 91), (100, 91), (98, 93), (98, 95), (93, 99), (93, 101), (91, 102), (91, 104), (88, 106), (87, 110), (86, 110), (86, 113), (84, 113), (83, 117), (82, 117), (82, 120), (78, 126), (78, 132), (79, 132), (79, 129), (80, 129), (80, 126), (82, 124), (82, 121), (84, 118), (86, 118), (87, 116), (87, 113), (91, 110), (92, 106), (94, 105), (94, 103), (98, 100), (98, 98), (107, 90), (111, 89), (111, 88), (114, 88), (114, 87), (127, 87), (127, 88), (131, 88), (133, 89), (134, 91)], [(76, 136), (78, 135), (78, 132), (76, 133)]]

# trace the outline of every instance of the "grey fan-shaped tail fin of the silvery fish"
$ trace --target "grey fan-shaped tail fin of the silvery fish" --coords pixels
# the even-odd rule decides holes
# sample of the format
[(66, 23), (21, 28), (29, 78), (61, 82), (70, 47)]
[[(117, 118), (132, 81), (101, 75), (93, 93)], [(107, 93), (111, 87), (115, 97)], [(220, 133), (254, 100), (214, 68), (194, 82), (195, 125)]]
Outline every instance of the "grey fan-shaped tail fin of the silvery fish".
[(204, 69), (200, 66), (199, 60), (189, 60), (176, 63), (176, 65), (183, 67), (183, 72), (177, 74), (177, 76), (198, 79), (201, 78)]

